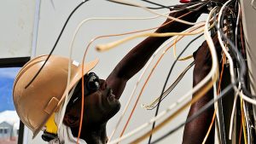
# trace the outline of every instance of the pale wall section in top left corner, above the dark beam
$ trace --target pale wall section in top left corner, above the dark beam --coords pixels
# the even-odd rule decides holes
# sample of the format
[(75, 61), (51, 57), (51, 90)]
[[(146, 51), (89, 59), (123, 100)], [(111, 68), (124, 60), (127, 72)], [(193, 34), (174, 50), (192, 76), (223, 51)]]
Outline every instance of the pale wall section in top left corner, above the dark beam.
[(31, 56), (35, 1), (0, 1), (0, 58)]

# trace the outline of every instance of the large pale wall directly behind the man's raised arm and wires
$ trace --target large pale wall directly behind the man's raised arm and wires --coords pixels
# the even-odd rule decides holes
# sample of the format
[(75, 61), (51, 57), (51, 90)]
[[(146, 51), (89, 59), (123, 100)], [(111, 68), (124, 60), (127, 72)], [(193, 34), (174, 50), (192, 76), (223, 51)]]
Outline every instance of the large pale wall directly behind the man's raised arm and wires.
[[(80, 3), (79, 0), (67, 1), (67, 0), (53, 0), (54, 6), (51, 4), (50, 0), (41, 1), (40, 7), (40, 15), (39, 15), (39, 26), (38, 26), (38, 43), (36, 49), (36, 55), (45, 55), (49, 54), (50, 49), (52, 49), (56, 38), (61, 32), (61, 28), (64, 25), (68, 14)], [(172, 5), (174, 3), (178, 3), (178, 1), (169, 1), (169, 0), (158, 0), (154, 1), (156, 3), (166, 3), (166, 5)], [(143, 3), (144, 4), (144, 3)], [(160, 13), (168, 12), (167, 9), (162, 9), (159, 11)], [(88, 3), (84, 3), (84, 5), (75, 13), (71, 18), (70, 22), (67, 24), (66, 30), (63, 32), (60, 42), (58, 43), (55, 49), (55, 55), (68, 55), (68, 47), (71, 43), (73, 32), (78, 26), (81, 20), (92, 18), (92, 17), (149, 17), (154, 16), (154, 14), (149, 14), (143, 9), (132, 8), (129, 6), (122, 6), (116, 3), (109, 3), (106, 1), (94, 0), (89, 1)], [(154, 26), (160, 26), (160, 24), (166, 20), (166, 18), (159, 18), (155, 20), (91, 20), (90, 22), (84, 24), (84, 26), (79, 30), (78, 36), (75, 38), (74, 50), (73, 50), (73, 59), (82, 60), (84, 49), (86, 44), (90, 42), (90, 39), (93, 37), (97, 37), (100, 35), (113, 34), (113, 33), (122, 33), (122, 32), (131, 32), (135, 30), (146, 29)], [(32, 21), (31, 21), (32, 22)], [(31, 25), (31, 24), (30, 24)], [(132, 40), (129, 43), (124, 43), (120, 45), (116, 49), (112, 49), (108, 52), (98, 53), (94, 48), (96, 43), (106, 43), (112, 42), (113, 40), (117, 40), (121, 37), (111, 37), (111, 38), (102, 38), (101, 40), (97, 40), (92, 44), (91, 49), (88, 51), (88, 55), (86, 60), (92, 60), (96, 57), (100, 58), (100, 63), (93, 70), (96, 72), (100, 78), (107, 78), (108, 74), (113, 70), (113, 67), (118, 63), (119, 60), (129, 51), (131, 50), (137, 43), (143, 40), (143, 38), (138, 38), (136, 40)], [(189, 38), (184, 38), (181, 43), (177, 43), (177, 51), (180, 51), (185, 47), (187, 43), (189, 43)], [(197, 41), (191, 45), (188, 51), (184, 55), (191, 55), (198, 46), (201, 45), (201, 42)], [(17, 47), (15, 47), (17, 48)], [(142, 55), (143, 56), (143, 55)], [(143, 92), (142, 98), (138, 102), (137, 109), (134, 113), (134, 116), (131, 118), (131, 123), (127, 128), (126, 132), (131, 131), (137, 126), (148, 122), (150, 118), (154, 116), (154, 111), (146, 111), (140, 107), (143, 103), (149, 103), (156, 96), (160, 95), (160, 91), (165, 82), (167, 72), (172, 65), (174, 60), (173, 52), (170, 50), (163, 60), (160, 62), (160, 66), (157, 66), (152, 78), (149, 80), (146, 89)], [(177, 66), (175, 67), (175, 71), (172, 72), (171, 81), (169, 85), (177, 78), (177, 75), (183, 71), (183, 69), (189, 65), (192, 60), (188, 61), (179, 61), (177, 62)], [(155, 60), (154, 60), (155, 62)], [(150, 67), (152, 67), (151, 65)], [(147, 71), (147, 74), (150, 70)], [(119, 113), (112, 118), (108, 123), (108, 135), (110, 135), (113, 130), (114, 125), (116, 124), (119, 115), (123, 111), (125, 107), (125, 102), (128, 100), (128, 97), (131, 95), (131, 91), (137, 82), (137, 78), (139, 77), (138, 73), (134, 78), (130, 80), (127, 84), (125, 92), (123, 93), (120, 101), (122, 103), (122, 108)], [(143, 81), (145, 77), (143, 78)], [(160, 112), (165, 110), (166, 107), (171, 105), (174, 101), (177, 101), (179, 97), (184, 95), (189, 89), (192, 87), (192, 71), (190, 70), (186, 76), (183, 78), (180, 84), (177, 85), (177, 89), (174, 89), (173, 92), (166, 98), (165, 101), (162, 102), (160, 107)], [(139, 89), (137, 89), (137, 94), (139, 90), (142, 88), (142, 84), (139, 85)], [(131, 107), (133, 107), (135, 99), (132, 101), (132, 105), (129, 108), (129, 112), (131, 112)], [(175, 125), (183, 122), (187, 116), (187, 111), (183, 112), (180, 116), (175, 118), (172, 123), (168, 124), (165, 129), (160, 130), (160, 132), (156, 133), (153, 137), (158, 137), (166, 133), (166, 131), (173, 128)], [(123, 121), (123, 125), (125, 124), (125, 120), (127, 119), (128, 113)], [(123, 125), (120, 126), (118, 135), (120, 130), (122, 130)], [(147, 130), (150, 130), (148, 127)], [(117, 137), (118, 135), (115, 135)], [(178, 130), (175, 134), (169, 136), (166, 140), (161, 141), (160, 143), (181, 143), (183, 135), (183, 129)], [(131, 141), (131, 139), (130, 139)], [(147, 140), (148, 141), (148, 140)], [(144, 143), (146, 143), (145, 141)], [(127, 143), (128, 141), (124, 141)], [(40, 135), (36, 137), (35, 140), (32, 140), (32, 133), (28, 135), (28, 143), (29, 144), (38, 144), (45, 143), (41, 140)]]

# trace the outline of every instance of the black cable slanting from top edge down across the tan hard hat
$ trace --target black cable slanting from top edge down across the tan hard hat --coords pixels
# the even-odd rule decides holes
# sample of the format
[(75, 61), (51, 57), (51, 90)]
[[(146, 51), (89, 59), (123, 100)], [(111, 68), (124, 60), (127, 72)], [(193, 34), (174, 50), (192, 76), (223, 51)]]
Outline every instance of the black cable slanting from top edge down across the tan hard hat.
[(39, 69), (38, 72), (35, 74), (35, 76), (32, 78), (32, 80), (31, 80), (28, 84), (26, 84), (25, 89), (26, 89), (30, 84), (32, 84), (32, 82), (38, 77), (38, 74), (43, 70), (43, 68), (44, 68), (44, 66), (45, 66), (45, 64), (46, 64), (46, 62), (49, 60), (50, 55), (52, 55), (53, 51), (55, 50), (55, 47), (56, 47), (57, 43), (59, 42), (59, 40), (60, 40), (60, 38), (61, 38), (62, 32), (64, 31), (65, 27), (67, 26), (67, 22), (68, 22), (68, 20), (71, 18), (71, 16), (73, 15), (73, 13), (74, 13), (77, 9), (79, 9), (79, 7), (80, 7), (82, 4), (84, 4), (84, 3), (88, 2), (88, 1), (89, 1), (89, 0), (84, 0), (83, 2), (79, 3), (79, 5), (78, 5), (75, 9), (73, 9), (72, 13), (69, 14), (69, 16), (68, 16), (68, 18), (67, 18), (67, 20), (66, 20), (64, 26), (63, 26), (62, 29), (61, 29), (60, 35), (59, 35), (59, 37), (57, 38), (54, 47), (51, 49), (51, 51), (49, 52), (49, 55), (47, 56), (46, 60), (44, 61), (43, 66), (40, 67), (40, 69)]

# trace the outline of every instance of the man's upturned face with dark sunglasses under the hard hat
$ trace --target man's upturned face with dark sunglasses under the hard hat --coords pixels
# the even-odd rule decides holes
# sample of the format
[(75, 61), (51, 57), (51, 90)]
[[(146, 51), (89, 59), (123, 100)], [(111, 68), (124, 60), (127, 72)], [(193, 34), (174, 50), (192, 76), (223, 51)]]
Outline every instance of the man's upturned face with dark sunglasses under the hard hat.
[[(90, 79), (91, 82), (88, 82)], [(96, 83), (96, 84), (93, 84)], [(89, 85), (89, 86), (88, 86)], [(88, 88), (89, 87), (89, 88)], [(93, 87), (93, 89), (90, 89)], [(70, 108), (74, 115), (80, 118), (82, 89), (81, 83), (76, 87), (73, 98), (70, 101)], [(77, 99), (77, 100), (76, 100)], [(73, 102), (76, 100), (75, 102)], [(108, 87), (105, 80), (99, 78), (84, 78), (84, 118), (83, 125), (105, 124), (112, 118), (120, 108), (118, 99), (115, 99), (113, 91)]]

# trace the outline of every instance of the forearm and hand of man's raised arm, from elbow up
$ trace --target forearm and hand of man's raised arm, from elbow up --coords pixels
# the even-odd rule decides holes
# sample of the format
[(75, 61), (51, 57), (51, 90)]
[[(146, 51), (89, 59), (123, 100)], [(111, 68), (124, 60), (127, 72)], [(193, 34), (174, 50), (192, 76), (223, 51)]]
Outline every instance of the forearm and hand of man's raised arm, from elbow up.
[[(173, 13), (171, 16), (179, 17), (186, 12), (177, 12)], [(187, 14), (183, 17), (183, 20), (189, 20), (195, 22), (200, 16), (197, 12)], [(166, 20), (168, 22), (170, 20)], [(165, 22), (165, 23), (166, 23)], [(185, 25), (179, 22), (172, 22), (166, 26), (160, 27), (155, 32), (164, 33), (164, 32), (183, 32), (189, 28), (189, 25)], [(154, 54), (154, 51), (160, 47), (170, 37), (148, 37), (143, 40), (142, 43), (139, 43), (135, 48), (125, 55), (125, 57), (119, 62), (115, 67), (114, 71), (119, 78), (130, 79), (137, 72), (139, 72), (143, 66), (146, 64), (151, 55)]]

